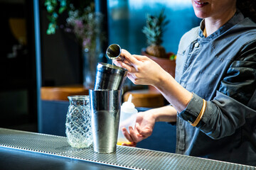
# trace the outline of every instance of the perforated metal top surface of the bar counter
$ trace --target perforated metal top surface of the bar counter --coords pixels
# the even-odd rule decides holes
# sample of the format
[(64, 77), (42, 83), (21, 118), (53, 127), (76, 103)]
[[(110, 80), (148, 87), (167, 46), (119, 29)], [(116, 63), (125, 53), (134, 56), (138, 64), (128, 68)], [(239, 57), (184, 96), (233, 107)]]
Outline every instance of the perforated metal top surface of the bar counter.
[(93, 152), (92, 148), (75, 149), (70, 147), (66, 137), (4, 128), (0, 128), (0, 149), (1, 147), (39, 152), (58, 157), (69, 157), (85, 162), (107, 164), (126, 169), (256, 169), (256, 167), (252, 166), (134, 147), (117, 146), (117, 152), (114, 154), (97, 154)]

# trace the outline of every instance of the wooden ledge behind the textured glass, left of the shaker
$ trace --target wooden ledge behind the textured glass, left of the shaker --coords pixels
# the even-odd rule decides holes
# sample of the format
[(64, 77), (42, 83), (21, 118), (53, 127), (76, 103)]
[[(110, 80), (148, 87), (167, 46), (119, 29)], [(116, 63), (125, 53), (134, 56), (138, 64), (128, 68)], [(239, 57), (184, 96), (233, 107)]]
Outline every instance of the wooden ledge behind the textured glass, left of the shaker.
[(46, 101), (68, 101), (68, 96), (89, 95), (89, 90), (78, 86), (43, 86), (41, 99)]

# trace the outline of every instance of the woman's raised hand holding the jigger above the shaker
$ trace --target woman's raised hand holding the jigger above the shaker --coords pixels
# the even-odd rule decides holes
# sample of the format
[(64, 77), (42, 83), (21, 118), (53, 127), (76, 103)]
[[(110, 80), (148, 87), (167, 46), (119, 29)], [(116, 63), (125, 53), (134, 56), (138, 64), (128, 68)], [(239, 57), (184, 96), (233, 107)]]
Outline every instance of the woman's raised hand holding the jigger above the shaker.
[(142, 55), (131, 55), (127, 50), (122, 49), (121, 56), (124, 61), (114, 60), (114, 64), (128, 70), (127, 77), (134, 84), (156, 85), (160, 77), (164, 75), (164, 69), (156, 64), (149, 57)]

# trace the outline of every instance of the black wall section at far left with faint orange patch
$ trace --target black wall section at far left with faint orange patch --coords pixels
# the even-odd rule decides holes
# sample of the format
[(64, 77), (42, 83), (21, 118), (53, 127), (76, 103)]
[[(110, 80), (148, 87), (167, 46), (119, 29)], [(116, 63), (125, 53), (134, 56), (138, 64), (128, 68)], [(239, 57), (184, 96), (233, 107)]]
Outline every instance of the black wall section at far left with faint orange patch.
[(0, 125), (36, 130), (36, 60), (33, 4), (0, 1)]

